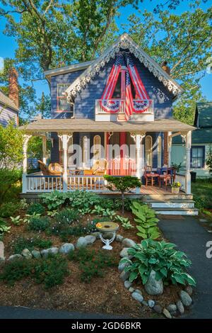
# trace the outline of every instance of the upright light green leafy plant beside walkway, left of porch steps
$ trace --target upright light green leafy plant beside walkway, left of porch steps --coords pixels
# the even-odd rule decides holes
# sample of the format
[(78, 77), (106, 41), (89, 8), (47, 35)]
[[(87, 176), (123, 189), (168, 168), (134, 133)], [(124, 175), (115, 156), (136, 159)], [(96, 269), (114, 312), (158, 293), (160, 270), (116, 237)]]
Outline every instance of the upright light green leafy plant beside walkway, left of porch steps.
[(148, 205), (141, 205), (134, 201), (131, 205), (131, 210), (136, 218), (136, 228), (139, 230), (137, 233), (138, 236), (146, 239), (152, 238), (157, 239), (160, 237), (160, 231), (156, 225), (158, 224), (158, 218), (155, 218), (155, 211), (148, 207)]

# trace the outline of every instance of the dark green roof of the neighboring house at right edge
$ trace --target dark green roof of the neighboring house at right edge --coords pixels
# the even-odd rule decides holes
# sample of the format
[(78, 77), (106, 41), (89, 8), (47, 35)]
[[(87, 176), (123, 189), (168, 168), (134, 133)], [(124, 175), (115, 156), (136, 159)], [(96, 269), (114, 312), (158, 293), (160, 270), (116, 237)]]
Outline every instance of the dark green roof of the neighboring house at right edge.
[(212, 102), (196, 103), (194, 125), (199, 128), (212, 128)]

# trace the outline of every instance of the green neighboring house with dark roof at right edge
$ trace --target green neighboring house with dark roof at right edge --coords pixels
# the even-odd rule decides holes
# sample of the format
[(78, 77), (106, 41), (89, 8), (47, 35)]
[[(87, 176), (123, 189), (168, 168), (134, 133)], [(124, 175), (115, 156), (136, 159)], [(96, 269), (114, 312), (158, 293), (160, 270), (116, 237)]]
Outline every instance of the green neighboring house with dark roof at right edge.
[[(212, 145), (212, 102), (196, 103), (194, 126), (197, 130), (192, 132), (190, 167), (197, 177), (204, 178), (210, 176), (206, 157)], [(179, 136), (172, 140), (172, 163), (182, 163), (182, 172), (186, 169), (186, 148)]]

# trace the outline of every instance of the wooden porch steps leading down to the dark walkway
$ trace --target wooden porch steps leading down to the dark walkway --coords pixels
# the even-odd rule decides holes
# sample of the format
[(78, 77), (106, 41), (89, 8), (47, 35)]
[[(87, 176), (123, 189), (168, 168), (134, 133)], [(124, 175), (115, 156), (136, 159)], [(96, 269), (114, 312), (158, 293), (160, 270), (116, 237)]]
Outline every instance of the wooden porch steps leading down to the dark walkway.
[(198, 209), (194, 208), (192, 195), (180, 194), (177, 196), (162, 195), (155, 198), (144, 198), (157, 214), (163, 215), (198, 215)]

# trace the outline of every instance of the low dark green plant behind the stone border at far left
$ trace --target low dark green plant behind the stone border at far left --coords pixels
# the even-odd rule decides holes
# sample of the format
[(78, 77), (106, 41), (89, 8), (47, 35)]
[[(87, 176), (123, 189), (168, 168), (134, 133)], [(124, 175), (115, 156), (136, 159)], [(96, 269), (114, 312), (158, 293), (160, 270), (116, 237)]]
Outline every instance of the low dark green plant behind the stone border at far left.
[(40, 237), (17, 237), (11, 242), (11, 249), (13, 253), (21, 254), (23, 249), (48, 249), (52, 246), (52, 241), (50, 239), (42, 239)]

